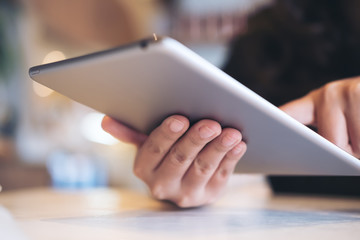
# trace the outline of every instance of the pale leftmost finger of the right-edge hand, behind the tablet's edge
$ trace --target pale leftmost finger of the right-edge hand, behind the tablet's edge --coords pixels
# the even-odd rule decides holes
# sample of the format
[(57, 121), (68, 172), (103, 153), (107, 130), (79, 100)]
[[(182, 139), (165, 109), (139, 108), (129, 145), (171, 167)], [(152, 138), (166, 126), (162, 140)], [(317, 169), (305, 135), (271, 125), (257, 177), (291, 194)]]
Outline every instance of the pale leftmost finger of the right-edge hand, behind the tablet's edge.
[(311, 95), (288, 102), (279, 108), (302, 124), (315, 125), (315, 106)]

